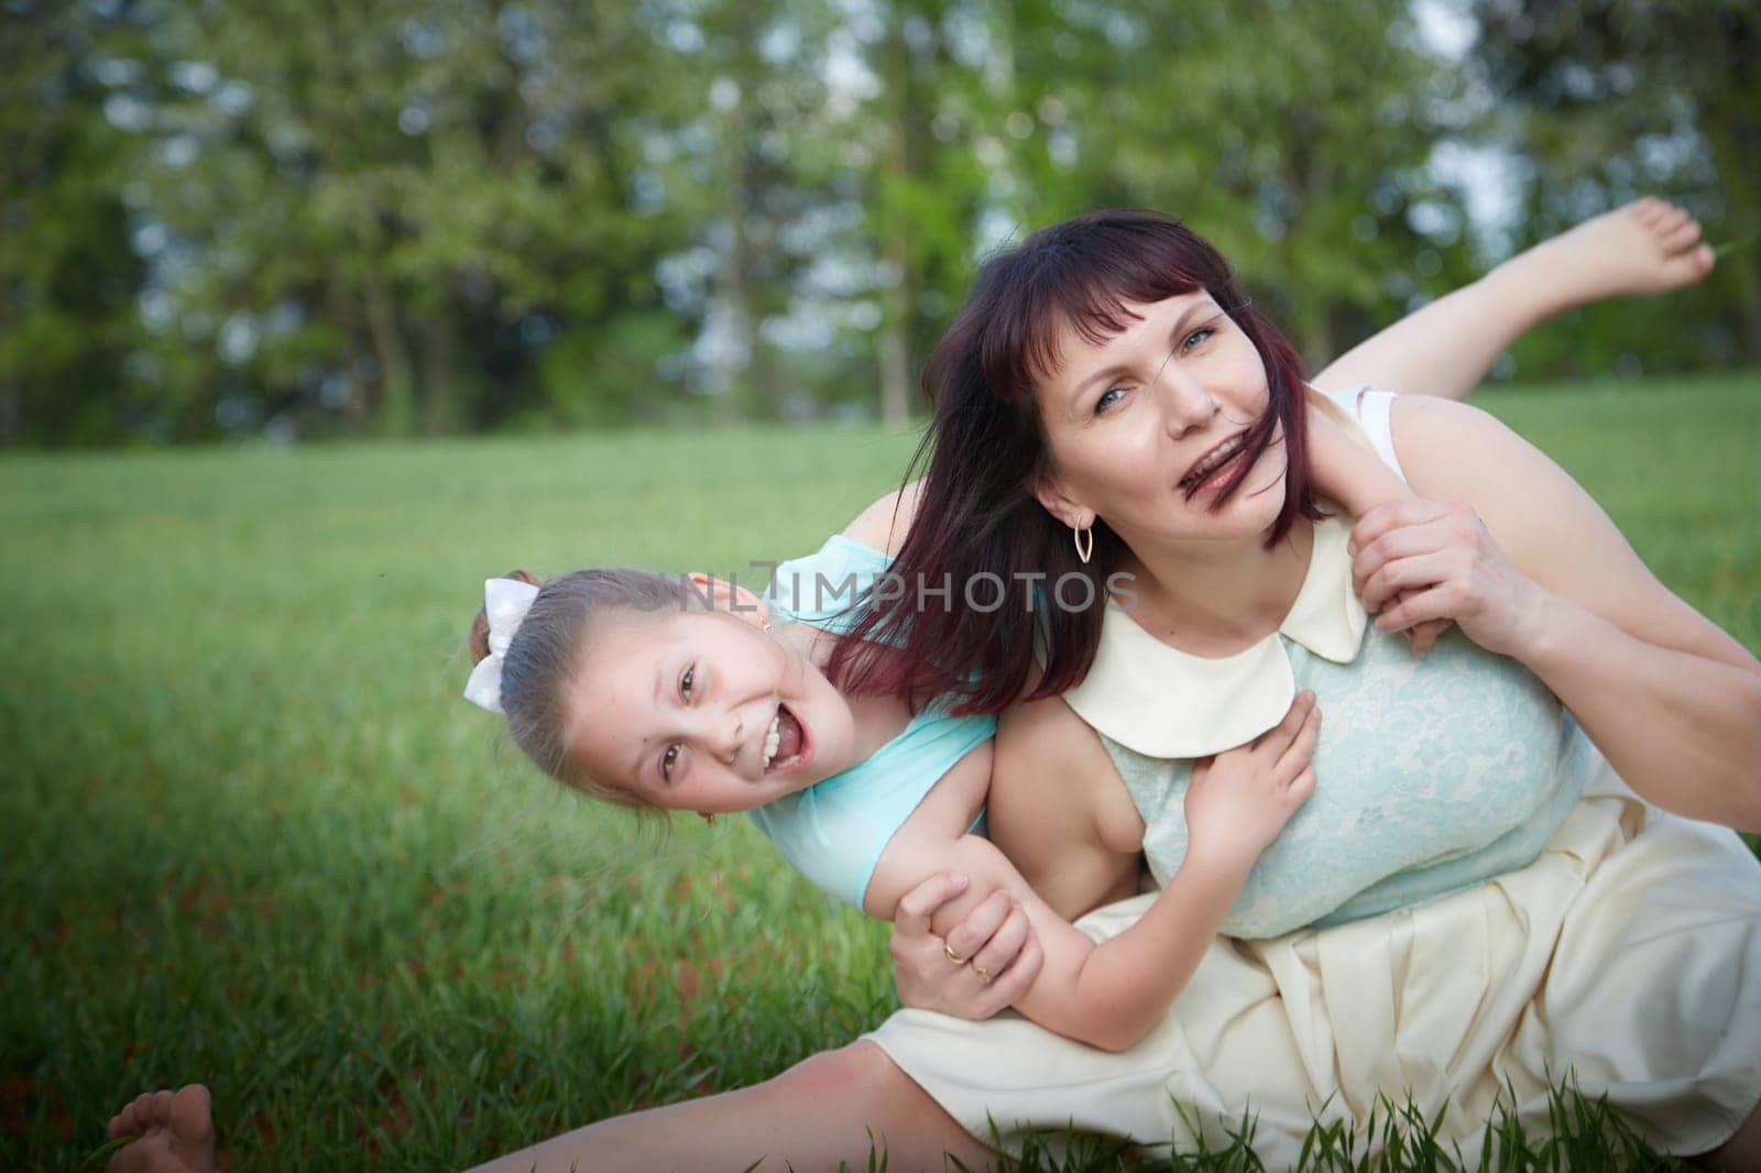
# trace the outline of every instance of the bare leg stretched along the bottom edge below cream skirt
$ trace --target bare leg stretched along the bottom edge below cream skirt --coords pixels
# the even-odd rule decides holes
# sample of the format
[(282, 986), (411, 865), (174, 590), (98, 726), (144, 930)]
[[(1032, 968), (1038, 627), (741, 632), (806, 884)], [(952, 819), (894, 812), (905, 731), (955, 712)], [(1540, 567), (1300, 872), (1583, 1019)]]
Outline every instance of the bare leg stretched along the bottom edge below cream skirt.
[(884, 1147), (889, 1169), (993, 1168), (995, 1154), (954, 1124), (873, 1043), (814, 1055), (775, 1080), (692, 1099), (511, 1152), (472, 1173), (569, 1169), (852, 1169)]

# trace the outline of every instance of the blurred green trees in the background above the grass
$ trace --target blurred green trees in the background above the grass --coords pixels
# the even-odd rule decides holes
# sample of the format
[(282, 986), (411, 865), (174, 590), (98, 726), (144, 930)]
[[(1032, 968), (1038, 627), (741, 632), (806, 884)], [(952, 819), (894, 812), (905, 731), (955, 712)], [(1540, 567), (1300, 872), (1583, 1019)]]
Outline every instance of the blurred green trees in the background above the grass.
[[(974, 261), (1190, 220), (1319, 366), (1641, 192), (1752, 0), (5, 0), (0, 446), (900, 421)], [(1761, 250), (1500, 377), (1761, 361)]]

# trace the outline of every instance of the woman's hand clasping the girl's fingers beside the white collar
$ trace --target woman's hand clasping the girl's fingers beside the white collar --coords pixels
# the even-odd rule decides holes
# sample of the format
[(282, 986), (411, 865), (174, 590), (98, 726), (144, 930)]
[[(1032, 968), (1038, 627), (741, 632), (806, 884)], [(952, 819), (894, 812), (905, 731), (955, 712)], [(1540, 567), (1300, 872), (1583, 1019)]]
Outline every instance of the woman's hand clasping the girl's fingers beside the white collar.
[[(1469, 505), (1389, 502), (1351, 534), (1351, 581), (1379, 631), (1455, 620), (1488, 652), (1532, 646), (1546, 592), (1504, 555)], [(1382, 609), (1386, 608), (1386, 609)]]

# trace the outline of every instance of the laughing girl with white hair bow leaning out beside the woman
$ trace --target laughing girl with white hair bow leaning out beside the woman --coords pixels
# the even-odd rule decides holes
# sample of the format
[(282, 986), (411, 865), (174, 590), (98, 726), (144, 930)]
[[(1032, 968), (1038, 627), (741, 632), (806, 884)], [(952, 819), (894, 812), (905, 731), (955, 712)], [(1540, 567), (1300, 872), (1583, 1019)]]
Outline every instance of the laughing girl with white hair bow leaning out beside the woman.
[[(880, 560), (833, 539), (784, 564), (842, 576)], [(866, 567), (865, 567), (866, 569)], [(828, 576), (829, 576), (828, 574)], [(870, 574), (872, 576), (872, 574)], [(1259, 852), (1314, 787), (1321, 715), (1301, 696), (1252, 745), (1220, 754), (1189, 798), (1194, 851), (1155, 912), (1106, 946), (1071, 928), (981, 835), (995, 719), (917, 713), (896, 697), (849, 696), (824, 675), (842, 636), (824, 611), (796, 611), (701, 576), (646, 571), (490, 579), (474, 629), (474, 701), (507, 713), (534, 761), (611, 801), (715, 814), (747, 810), (828, 893), (891, 919), (935, 872), (1006, 891), (1014, 926), (1043, 951), (1011, 1000), (1069, 1037), (1118, 1050), (1160, 1018), (1215, 935)], [(977, 983), (1002, 976), (988, 955)], [(1006, 955), (1004, 955), (1006, 956)], [(1034, 956), (1039, 960), (1039, 955)]]

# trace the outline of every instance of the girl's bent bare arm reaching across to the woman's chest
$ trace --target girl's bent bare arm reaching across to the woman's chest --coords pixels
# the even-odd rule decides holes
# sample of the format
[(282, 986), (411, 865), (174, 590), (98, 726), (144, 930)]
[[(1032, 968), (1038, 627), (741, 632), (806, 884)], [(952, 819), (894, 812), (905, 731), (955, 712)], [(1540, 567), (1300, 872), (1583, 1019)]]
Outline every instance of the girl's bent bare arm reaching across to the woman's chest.
[[(914, 828), (907, 824), (888, 845), (875, 879), (884, 872), (896, 877), (888, 882), (905, 886), (937, 870), (970, 877), (967, 891), (932, 918), (933, 932), (944, 941), (995, 889), (1009, 893), (1043, 951), (1039, 974), (1014, 999), (1014, 1007), (1058, 1034), (1102, 1050), (1124, 1050), (1162, 1020), (1210, 948), (1259, 852), (1308, 798), (1314, 789), (1308, 757), (1317, 736), (1319, 710), (1314, 694), (1305, 692), (1284, 722), (1254, 745), (1201, 763), (1185, 800), (1192, 833), (1185, 861), (1148, 912), (1102, 944), (1046, 904), (995, 844), (974, 835), (949, 844), (925, 833), (909, 835)], [(1094, 752), (1104, 761), (1099, 741)], [(1067, 780), (1074, 777), (1081, 775)], [(1111, 868), (1092, 874), (1095, 895), (1116, 888), (1125, 875), (1136, 875), (1136, 856), (1115, 854)], [(977, 962), (983, 963), (983, 956)], [(960, 962), (962, 967), (970, 963), (969, 958)], [(974, 972), (972, 979), (984, 985), (990, 974)]]

